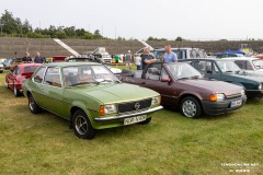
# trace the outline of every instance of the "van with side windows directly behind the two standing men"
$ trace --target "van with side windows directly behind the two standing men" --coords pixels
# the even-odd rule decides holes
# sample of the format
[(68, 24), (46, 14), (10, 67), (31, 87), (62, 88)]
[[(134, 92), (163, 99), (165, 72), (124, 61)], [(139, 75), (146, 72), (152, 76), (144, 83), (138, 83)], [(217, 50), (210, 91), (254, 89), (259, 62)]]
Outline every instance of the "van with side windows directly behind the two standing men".
[[(172, 48), (172, 51), (176, 54), (178, 59), (191, 59), (191, 58), (205, 58), (207, 54), (202, 48)], [(162, 60), (164, 55), (164, 48), (153, 49), (153, 55), (157, 59)]]

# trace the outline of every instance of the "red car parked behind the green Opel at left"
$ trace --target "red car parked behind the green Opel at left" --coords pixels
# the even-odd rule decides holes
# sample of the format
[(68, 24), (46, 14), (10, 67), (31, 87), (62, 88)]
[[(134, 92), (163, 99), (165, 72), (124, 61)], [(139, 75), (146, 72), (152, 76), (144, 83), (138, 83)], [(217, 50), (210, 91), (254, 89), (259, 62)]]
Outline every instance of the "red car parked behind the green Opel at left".
[(14, 96), (22, 95), (22, 81), (30, 79), (34, 71), (42, 66), (42, 63), (22, 63), (14, 67), (5, 75), (7, 89), (13, 90)]

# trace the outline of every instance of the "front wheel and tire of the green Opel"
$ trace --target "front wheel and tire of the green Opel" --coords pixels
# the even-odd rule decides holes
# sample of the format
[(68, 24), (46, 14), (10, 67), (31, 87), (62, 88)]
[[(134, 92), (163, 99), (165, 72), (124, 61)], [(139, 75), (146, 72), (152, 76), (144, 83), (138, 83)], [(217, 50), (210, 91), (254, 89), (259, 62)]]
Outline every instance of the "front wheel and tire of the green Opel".
[(72, 127), (75, 130), (75, 135), (81, 139), (91, 140), (96, 135), (95, 130), (91, 126), (89, 117), (81, 109), (75, 112), (72, 117)]

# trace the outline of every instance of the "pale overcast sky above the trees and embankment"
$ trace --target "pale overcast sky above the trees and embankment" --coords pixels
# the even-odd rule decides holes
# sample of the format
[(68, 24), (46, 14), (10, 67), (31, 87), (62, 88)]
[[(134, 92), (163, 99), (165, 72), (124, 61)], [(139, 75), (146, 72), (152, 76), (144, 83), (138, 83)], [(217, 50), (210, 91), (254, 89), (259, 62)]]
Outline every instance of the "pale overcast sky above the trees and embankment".
[(33, 28), (76, 26), (115, 38), (263, 39), (263, 0), (0, 0)]

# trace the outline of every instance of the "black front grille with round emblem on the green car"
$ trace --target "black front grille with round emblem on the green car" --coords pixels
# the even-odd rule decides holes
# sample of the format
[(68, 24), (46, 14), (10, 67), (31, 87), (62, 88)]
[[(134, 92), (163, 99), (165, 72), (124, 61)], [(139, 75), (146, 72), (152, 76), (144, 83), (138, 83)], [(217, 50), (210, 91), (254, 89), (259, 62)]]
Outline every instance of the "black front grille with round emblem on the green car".
[(147, 109), (151, 105), (151, 98), (138, 101), (138, 102), (130, 102), (118, 104), (118, 113), (128, 113), (134, 110), (141, 110)]

